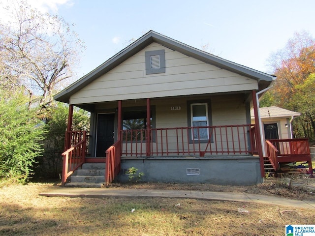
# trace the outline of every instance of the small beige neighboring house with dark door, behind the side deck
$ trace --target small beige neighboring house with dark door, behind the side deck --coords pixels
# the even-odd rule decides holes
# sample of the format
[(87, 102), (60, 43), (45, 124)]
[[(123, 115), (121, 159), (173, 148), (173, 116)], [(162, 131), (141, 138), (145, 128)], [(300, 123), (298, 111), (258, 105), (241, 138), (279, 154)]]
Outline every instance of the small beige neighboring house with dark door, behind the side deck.
[[(301, 116), (298, 112), (292, 112), (280, 107), (261, 107), (259, 108), (262, 123), (263, 139), (292, 139), (293, 118)], [(255, 123), (253, 109), (251, 110), (252, 124)]]

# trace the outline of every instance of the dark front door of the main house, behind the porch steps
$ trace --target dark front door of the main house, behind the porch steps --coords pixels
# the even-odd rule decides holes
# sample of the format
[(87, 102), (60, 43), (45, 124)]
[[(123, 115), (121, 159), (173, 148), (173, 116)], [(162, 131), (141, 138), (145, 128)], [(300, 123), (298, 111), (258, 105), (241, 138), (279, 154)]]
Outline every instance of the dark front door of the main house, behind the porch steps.
[(115, 114), (97, 115), (96, 157), (104, 157), (105, 151), (114, 144)]

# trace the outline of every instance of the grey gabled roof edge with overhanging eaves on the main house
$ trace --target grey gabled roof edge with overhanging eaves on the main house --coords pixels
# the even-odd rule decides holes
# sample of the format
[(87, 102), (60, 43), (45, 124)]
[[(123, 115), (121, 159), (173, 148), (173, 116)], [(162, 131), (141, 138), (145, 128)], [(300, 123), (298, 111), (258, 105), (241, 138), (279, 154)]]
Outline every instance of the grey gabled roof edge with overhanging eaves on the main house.
[(220, 57), (214, 56), (212, 54), (206, 53), (199, 49), (193, 48), (187, 44), (164, 36), (160, 33), (157, 33), (153, 30), (147, 32), (145, 35), (131, 43), (125, 49), (117, 53), (112, 58), (106, 60), (103, 64), (95, 68), (93, 71), (88, 73), (87, 75), (83, 76), (78, 81), (74, 82), (72, 85), (63, 89), (63, 91), (59, 92), (54, 96), (54, 99), (57, 101), (69, 102), (69, 98), (72, 94), (76, 93), (80, 89), (83, 89), (85, 86), (93, 82), (99, 76), (105, 74), (106, 72), (110, 71), (111, 69), (115, 68), (117, 65), (125, 61), (126, 59), (130, 58), (143, 48), (147, 47), (151, 43), (156, 42), (164, 47), (170, 48), (172, 50), (178, 51), (182, 54), (185, 54), (189, 57), (201, 60), (205, 63), (209, 63), (215, 65), (219, 68), (226, 69), (246, 77), (255, 79), (258, 81), (259, 90), (267, 88), (272, 80), (276, 77), (273, 75), (269, 75), (249, 67), (234, 63), (232, 61), (228, 61), (222, 59)]

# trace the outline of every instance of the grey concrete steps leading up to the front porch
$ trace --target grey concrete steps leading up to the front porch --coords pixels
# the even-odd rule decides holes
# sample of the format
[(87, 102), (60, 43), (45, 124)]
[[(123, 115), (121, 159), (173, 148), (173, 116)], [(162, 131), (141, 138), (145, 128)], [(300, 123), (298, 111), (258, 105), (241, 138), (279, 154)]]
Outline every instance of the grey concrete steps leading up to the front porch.
[(105, 182), (105, 163), (85, 163), (70, 176), (65, 187), (101, 188)]

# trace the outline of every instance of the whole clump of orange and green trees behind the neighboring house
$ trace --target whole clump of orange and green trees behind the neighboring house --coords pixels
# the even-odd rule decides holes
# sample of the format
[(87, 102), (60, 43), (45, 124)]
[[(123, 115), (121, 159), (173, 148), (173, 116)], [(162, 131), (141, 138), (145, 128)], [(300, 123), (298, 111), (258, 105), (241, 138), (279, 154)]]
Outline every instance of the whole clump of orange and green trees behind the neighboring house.
[(262, 103), (301, 113), (315, 133), (315, 39), (306, 31), (296, 32), (286, 46), (270, 57), (277, 80)]

